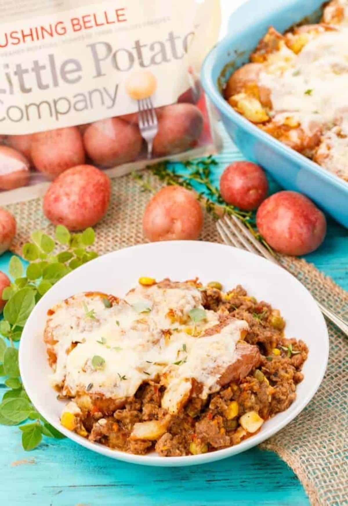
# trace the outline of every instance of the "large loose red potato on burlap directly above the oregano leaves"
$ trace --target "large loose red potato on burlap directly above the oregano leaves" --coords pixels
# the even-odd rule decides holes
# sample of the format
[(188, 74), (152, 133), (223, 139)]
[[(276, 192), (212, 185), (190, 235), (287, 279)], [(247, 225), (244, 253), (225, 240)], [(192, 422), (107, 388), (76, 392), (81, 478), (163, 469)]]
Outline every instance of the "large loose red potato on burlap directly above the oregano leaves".
[(111, 183), (106, 174), (92, 165), (78, 165), (51, 183), (43, 199), (43, 213), (55, 225), (82, 230), (103, 218), (110, 195)]

